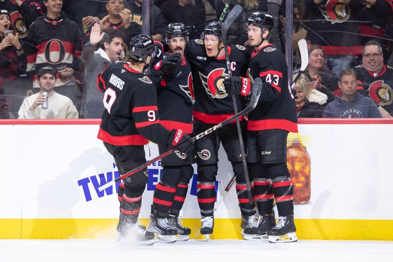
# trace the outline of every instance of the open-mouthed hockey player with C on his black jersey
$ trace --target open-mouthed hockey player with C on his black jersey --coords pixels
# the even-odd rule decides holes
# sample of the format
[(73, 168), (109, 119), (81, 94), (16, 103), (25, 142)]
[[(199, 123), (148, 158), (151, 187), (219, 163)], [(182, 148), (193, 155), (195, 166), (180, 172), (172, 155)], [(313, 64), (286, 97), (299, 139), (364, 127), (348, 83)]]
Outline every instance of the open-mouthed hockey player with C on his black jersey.
[[(190, 41), (185, 50), (193, 73), (195, 93), (193, 115), (196, 134), (234, 115), (232, 98), (225, 91), (223, 85), (225, 77), (228, 76), (228, 70), (221, 28), (221, 22), (209, 23), (203, 30), (201, 39)], [(232, 74), (245, 76), (248, 66), (246, 48), (241, 45), (230, 45), (228, 54)], [(245, 101), (237, 97), (236, 104), (240, 112), (244, 108)], [(239, 120), (242, 131), (245, 132), (244, 117), (240, 117)], [(218, 172), (220, 142), (224, 146), (227, 158), (236, 175), (236, 191), (242, 214), (241, 226), (243, 229), (248, 228), (254, 221), (255, 207), (253, 204), (249, 204), (239, 137), (236, 123), (233, 121), (233, 123), (229, 123), (196, 141), (197, 198), (202, 216), (200, 232), (206, 237), (213, 233), (214, 227), (215, 181)]]

